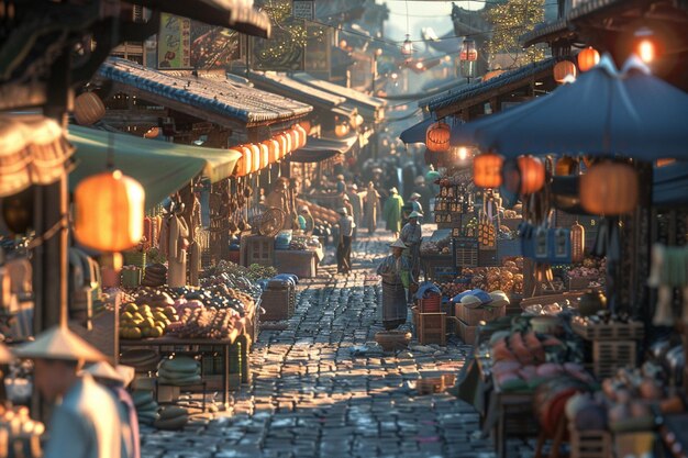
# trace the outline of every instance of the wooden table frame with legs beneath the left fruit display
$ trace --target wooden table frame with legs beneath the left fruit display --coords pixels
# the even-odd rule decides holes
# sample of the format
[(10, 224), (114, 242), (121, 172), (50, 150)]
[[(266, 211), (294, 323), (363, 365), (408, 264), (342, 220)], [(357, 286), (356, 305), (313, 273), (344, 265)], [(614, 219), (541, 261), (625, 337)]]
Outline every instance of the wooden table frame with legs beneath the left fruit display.
[(211, 338), (177, 338), (170, 336), (163, 336), (158, 338), (144, 338), (141, 340), (120, 340), (120, 348), (125, 347), (160, 347), (165, 346), (217, 346), (222, 347), (222, 402), (226, 405), (230, 399), (230, 347), (236, 343), (241, 344), (241, 378), (242, 383), (249, 382), (249, 366), (248, 366), (248, 348), (251, 346), (251, 336), (246, 333), (240, 333), (234, 328), (228, 338), (211, 339)]

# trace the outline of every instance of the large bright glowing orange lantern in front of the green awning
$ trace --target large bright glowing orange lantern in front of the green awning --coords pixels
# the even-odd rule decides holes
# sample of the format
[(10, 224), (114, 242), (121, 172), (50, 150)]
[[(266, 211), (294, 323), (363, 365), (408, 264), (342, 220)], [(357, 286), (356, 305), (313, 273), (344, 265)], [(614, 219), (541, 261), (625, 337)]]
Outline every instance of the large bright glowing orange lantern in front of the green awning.
[(75, 190), (74, 235), (99, 252), (122, 252), (143, 237), (145, 192), (120, 170), (84, 179)]

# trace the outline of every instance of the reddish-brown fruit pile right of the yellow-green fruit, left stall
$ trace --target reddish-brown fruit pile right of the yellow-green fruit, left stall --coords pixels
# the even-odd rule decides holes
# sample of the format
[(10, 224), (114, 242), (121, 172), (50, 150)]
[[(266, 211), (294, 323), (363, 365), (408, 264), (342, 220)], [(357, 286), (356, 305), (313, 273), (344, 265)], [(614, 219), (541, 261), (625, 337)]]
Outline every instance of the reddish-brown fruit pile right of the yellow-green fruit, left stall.
[(170, 324), (168, 333), (180, 338), (226, 338), (234, 328), (238, 313), (233, 309), (186, 308), (179, 321)]

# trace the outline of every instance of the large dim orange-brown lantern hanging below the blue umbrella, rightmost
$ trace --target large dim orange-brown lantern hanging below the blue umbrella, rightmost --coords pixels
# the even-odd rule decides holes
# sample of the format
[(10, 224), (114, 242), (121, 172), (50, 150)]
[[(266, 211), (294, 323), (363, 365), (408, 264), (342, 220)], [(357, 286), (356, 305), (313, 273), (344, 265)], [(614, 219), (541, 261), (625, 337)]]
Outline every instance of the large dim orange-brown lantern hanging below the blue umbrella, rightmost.
[(637, 204), (637, 174), (628, 164), (603, 161), (580, 177), (580, 205), (592, 214), (614, 216)]

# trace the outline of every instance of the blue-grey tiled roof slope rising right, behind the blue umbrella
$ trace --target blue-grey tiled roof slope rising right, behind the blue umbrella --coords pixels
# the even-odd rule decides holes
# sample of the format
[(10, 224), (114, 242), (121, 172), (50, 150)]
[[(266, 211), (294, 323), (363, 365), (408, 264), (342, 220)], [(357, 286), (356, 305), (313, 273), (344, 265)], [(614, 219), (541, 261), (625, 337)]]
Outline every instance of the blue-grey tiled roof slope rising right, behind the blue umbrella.
[(425, 99), (424, 101), (422, 101), (423, 104), (419, 102), (419, 105), (421, 108), (428, 107), (430, 111), (440, 110), (452, 104), (456, 104), (465, 100), (469, 100), (471, 98), (485, 94), (502, 86), (520, 80), (525, 80), (533, 75), (551, 69), (556, 63), (557, 59), (552, 57), (534, 64), (524, 65), (523, 67), (517, 68), (515, 70), (507, 71), (485, 82), (476, 82), (473, 85), (464, 86), (457, 90), (452, 89), (430, 100)]

